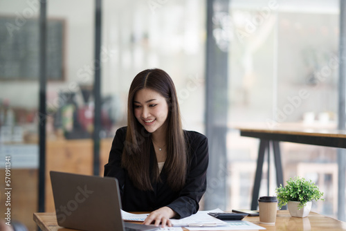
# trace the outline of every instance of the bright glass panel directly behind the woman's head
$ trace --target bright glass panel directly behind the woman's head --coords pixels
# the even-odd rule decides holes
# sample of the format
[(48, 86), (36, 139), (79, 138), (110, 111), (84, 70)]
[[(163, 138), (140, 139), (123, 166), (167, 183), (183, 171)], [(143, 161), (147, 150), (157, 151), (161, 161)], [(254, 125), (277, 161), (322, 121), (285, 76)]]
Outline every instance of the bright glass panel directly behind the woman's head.
[[(185, 129), (203, 131), (206, 6), (189, 1), (103, 1), (102, 97), (115, 129), (126, 124), (127, 93), (137, 73), (172, 77)], [(194, 107), (192, 107), (194, 105)]]

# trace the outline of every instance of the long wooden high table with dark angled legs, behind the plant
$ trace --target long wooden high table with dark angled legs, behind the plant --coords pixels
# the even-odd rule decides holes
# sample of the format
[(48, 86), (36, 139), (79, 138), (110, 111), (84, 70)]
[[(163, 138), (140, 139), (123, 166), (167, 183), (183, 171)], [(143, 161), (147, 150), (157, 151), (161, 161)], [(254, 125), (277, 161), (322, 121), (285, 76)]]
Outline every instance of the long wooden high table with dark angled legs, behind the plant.
[[(255, 183), (253, 186), (253, 198), (251, 203), (251, 210), (257, 210), (257, 198), (260, 192), (260, 181), (262, 178), (262, 167), (264, 161), (264, 153), (266, 150), (269, 152), (269, 145), (273, 145), (274, 159), (276, 167), (277, 185), (284, 185), (282, 174), (282, 163), (280, 154), (280, 141), (295, 142), (307, 145), (319, 145), (326, 147), (339, 147), (346, 148), (346, 131), (330, 130), (330, 129), (301, 129), (300, 131), (292, 128), (284, 129), (248, 129), (239, 128), (240, 136), (248, 136), (253, 138), (260, 138), (260, 148), (257, 158), (257, 169), (255, 175)], [(270, 155), (268, 154), (268, 157)], [(345, 181), (345, 176), (339, 176), (339, 179)], [(338, 190), (339, 198), (340, 193), (345, 192)], [(340, 204), (340, 203), (339, 203)], [(345, 205), (339, 205), (340, 210), (345, 210)]]

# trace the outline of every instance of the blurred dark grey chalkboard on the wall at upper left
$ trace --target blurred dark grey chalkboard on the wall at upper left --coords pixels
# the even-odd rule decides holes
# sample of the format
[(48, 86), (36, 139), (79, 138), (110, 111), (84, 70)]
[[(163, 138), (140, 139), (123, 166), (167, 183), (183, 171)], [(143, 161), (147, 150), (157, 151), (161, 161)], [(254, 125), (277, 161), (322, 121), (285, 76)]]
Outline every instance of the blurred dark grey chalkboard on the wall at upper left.
[[(64, 80), (64, 20), (47, 21), (47, 79)], [(39, 20), (0, 17), (0, 80), (38, 80)]]

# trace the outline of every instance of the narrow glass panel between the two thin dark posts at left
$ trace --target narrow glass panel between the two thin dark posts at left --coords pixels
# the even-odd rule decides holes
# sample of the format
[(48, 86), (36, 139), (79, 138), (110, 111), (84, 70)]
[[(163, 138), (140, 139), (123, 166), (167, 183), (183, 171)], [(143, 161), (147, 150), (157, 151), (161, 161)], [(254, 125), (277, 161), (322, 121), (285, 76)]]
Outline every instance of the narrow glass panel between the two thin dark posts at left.
[(48, 28), (48, 39), (59, 41), (54, 60), (62, 71), (46, 86), (46, 212), (55, 211), (49, 171), (93, 174), (95, 1), (48, 1), (50, 21), (61, 26), (57, 35)]

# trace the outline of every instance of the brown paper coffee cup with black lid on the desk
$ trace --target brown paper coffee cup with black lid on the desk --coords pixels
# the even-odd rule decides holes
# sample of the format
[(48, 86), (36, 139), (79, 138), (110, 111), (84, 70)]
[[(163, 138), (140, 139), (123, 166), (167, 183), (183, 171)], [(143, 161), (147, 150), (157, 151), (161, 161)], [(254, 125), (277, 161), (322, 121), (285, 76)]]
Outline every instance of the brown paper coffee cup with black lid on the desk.
[(276, 221), (277, 198), (276, 196), (261, 196), (258, 199), (260, 207), (260, 223), (273, 225)]

